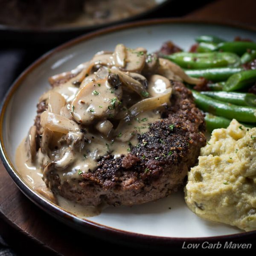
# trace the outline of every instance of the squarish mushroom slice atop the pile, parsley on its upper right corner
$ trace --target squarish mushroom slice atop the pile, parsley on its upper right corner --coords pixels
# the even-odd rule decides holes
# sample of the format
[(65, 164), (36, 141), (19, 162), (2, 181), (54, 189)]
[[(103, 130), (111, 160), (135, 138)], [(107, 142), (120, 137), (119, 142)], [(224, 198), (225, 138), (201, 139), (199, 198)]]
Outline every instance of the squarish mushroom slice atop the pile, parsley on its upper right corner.
[(144, 51), (136, 51), (127, 48), (125, 67), (122, 70), (140, 73), (145, 65), (146, 54)]

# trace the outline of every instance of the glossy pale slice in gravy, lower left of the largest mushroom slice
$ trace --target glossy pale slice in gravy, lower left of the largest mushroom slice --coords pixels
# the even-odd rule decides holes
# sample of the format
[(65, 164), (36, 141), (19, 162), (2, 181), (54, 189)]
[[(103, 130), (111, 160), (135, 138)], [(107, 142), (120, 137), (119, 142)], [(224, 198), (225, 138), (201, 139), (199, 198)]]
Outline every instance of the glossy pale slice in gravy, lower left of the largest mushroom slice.
[(43, 128), (49, 128), (51, 131), (67, 134), (69, 131), (79, 131), (79, 125), (64, 116), (44, 111), (41, 114), (41, 125)]

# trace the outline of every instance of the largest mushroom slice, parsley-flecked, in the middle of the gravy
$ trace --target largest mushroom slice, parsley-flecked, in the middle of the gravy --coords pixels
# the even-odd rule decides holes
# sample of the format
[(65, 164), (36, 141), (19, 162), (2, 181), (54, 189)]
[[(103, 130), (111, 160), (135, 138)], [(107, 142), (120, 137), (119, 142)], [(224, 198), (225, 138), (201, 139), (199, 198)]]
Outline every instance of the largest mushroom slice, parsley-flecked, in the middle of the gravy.
[(122, 98), (122, 88), (114, 89), (106, 79), (84, 86), (71, 104), (73, 118), (82, 124), (90, 124), (95, 118), (108, 118), (116, 114)]

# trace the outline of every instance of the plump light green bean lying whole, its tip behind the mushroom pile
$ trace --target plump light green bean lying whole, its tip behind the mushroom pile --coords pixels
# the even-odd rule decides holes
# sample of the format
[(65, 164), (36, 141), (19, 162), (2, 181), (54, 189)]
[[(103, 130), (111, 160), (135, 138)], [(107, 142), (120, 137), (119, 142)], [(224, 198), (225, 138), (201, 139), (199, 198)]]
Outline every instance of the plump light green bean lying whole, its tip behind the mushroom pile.
[(240, 58), (232, 52), (177, 52), (163, 55), (163, 58), (189, 69), (238, 66), (240, 64)]

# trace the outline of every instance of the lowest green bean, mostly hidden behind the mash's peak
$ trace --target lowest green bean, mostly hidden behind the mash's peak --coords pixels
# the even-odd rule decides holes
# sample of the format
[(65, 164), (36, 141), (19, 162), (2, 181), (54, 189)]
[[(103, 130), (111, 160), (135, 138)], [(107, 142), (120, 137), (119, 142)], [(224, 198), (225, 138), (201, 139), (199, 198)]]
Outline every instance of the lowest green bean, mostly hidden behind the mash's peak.
[[(211, 113), (205, 113), (204, 119), (206, 122), (207, 131), (212, 131), (214, 129), (219, 129), (219, 128), (227, 128), (231, 122), (231, 119), (228, 119), (222, 116), (214, 116)], [(241, 125), (244, 125), (245, 127), (248, 127), (248, 128), (255, 127), (255, 125), (251, 125), (247, 123), (241, 123)]]

